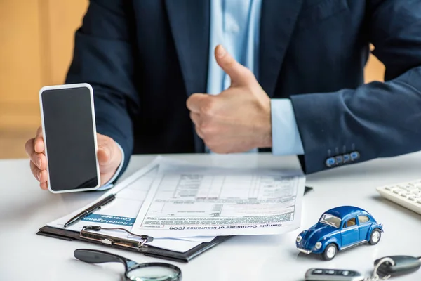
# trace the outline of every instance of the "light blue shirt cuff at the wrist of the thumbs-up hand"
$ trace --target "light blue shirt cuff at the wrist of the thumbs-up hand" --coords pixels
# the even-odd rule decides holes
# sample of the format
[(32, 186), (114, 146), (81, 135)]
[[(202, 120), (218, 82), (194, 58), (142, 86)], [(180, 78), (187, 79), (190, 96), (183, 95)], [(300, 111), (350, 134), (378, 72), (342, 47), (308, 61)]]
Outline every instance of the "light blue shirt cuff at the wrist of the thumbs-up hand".
[(303, 155), (304, 148), (291, 101), (288, 98), (272, 98), (270, 107), (273, 155)]

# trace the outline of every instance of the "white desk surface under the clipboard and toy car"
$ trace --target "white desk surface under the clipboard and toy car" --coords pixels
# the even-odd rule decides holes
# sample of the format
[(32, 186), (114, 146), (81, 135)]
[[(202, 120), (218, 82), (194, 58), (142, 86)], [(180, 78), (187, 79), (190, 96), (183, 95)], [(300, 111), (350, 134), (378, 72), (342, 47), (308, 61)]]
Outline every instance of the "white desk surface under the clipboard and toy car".
[[(264, 155), (171, 155), (193, 163), (222, 166), (298, 166), (296, 157)], [(135, 156), (123, 178), (149, 163), (154, 155)], [(307, 176), (314, 191), (304, 197), (302, 226), (309, 228), (332, 207), (355, 205), (385, 226), (376, 246), (362, 245), (338, 253), (332, 261), (299, 254), (295, 237), (300, 230), (276, 236), (233, 237), (189, 263), (174, 263), (184, 281), (303, 280), (307, 268), (345, 268), (369, 274), (373, 261), (387, 255), (421, 256), (421, 216), (380, 198), (377, 185), (421, 178), (421, 153), (376, 159)], [(1, 160), (0, 280), (121, 280), (123, 266), (94, 266), (76, 260), (78, 248), (102, 249), (138, 261), (163, 261), (131, 251), (79, 241), (36, 235), (45, 223), (95, 200), (101, 192), (52, 194), (41, 190), (27, 159)], [(421, 270), (392, 280), (421, 280)]]

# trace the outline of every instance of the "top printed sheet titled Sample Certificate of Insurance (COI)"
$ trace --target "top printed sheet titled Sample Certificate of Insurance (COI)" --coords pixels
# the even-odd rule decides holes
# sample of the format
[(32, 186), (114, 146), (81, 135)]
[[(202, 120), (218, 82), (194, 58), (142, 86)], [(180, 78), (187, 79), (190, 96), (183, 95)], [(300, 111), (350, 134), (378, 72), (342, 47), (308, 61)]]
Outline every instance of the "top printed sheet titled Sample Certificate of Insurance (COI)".
[(161, 164), (133, 225), (154, 237), (281, 234), (299, 228), (301, 171)]

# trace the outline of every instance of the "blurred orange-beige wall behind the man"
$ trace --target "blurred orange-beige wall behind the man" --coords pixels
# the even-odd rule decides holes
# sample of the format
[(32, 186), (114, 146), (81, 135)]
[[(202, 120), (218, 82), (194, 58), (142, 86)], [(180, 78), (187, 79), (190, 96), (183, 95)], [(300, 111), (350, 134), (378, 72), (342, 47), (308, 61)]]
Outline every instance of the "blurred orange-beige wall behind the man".
[[(26, 157), (40, 124), (39, 89), (62, 84), (88, 0), (0, 0), (0, 158)], [(382, 80), (370, 58), (366, 81)]]

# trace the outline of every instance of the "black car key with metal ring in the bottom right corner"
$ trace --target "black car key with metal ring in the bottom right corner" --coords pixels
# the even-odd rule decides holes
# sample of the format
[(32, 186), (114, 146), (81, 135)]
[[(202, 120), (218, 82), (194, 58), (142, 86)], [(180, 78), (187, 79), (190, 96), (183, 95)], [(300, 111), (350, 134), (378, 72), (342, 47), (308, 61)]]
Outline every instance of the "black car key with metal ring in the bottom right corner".
[[(387, 256), (387, 258), (392, 259), (395, 264), (392, 266), (392, 264), (389, 262), (382, 263), (377, 269), (377, 273), (379, 273), (379, 275), (398, 276), (407, 273), (413, 273), (421, 266), (420, 259), (415, 258), (414, 256)], [(376, 266), (380, 260), (381, 259), (376, 259), (374, 266)]]

